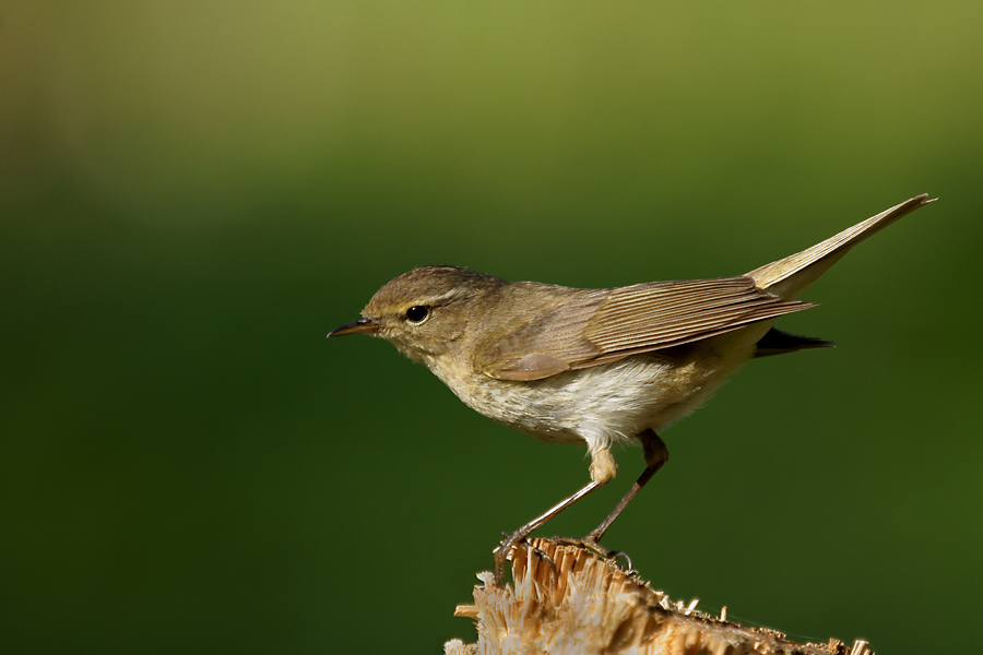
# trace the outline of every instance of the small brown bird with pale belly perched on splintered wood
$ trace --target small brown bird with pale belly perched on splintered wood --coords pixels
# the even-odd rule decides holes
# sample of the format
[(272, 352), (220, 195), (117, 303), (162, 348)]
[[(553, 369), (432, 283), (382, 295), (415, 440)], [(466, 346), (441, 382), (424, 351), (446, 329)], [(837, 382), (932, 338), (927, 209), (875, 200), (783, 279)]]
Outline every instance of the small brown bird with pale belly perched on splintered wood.
[(543, 441), (587, 444), (591, 481), (502, 541), (500, 580), (514, 544), (615, 477), (612, 445), (641, 442), (644, 472), (578, 540), (611, 555), (597, 540), (668, 458), (658, 432), (750, 359), (832, 345), (772, 325), (815, 307), (795, 298), (853, 246), (929, 202), (917, 195), (736, 277), (579, 289), (455, 266), (414, 269), (328, 336), (381, 336), (488, 418)]

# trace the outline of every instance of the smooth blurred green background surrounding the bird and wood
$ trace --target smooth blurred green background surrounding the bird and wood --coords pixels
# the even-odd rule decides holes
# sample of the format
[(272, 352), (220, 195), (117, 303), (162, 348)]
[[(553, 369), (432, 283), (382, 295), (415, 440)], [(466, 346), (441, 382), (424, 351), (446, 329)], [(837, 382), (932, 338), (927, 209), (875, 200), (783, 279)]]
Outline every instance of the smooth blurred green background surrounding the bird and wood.
[[(668, 3), (667, 3), (668, 4)], [(976, 638), (980, 2), (12, 2), (0, 10), (9, 653), (440, 653), (588, 479), (388, 344), (454, 263), (732, 275), (916, 193), (664, 437), (653, 584), (878, 653)], [(544, 531), (593, 527), (642, 467)], [(974, 643), (974, 642), (973, 642)]]

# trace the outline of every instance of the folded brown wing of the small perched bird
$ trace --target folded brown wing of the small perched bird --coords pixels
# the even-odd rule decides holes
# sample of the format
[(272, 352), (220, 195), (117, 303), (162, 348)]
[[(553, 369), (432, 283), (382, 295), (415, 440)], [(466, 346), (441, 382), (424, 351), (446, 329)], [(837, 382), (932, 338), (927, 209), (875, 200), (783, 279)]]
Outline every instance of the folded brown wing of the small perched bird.
[(595, 289), (479, 346), (474, 364), (489, 378), (540, 380), (809, 307), (814, 305), (766, 294), (745, 276)]

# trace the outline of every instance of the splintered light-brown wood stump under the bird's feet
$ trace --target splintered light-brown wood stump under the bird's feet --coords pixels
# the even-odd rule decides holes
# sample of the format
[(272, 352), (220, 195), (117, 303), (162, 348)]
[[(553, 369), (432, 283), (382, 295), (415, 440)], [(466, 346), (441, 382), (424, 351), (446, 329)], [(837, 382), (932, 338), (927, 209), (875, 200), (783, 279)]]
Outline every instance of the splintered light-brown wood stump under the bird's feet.
[(512, 550), (512, 585), (481, 573), (474, 604), (454, 616), (475, 620), (478, 641), (445, 644), (446, 655), (874, 655), (852, 646), (795, 644), (763, 628), (745, 628), (673, 603), (637, 574), (579, 546), (530, 539)]

